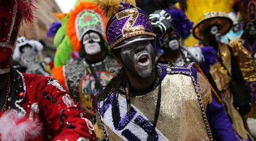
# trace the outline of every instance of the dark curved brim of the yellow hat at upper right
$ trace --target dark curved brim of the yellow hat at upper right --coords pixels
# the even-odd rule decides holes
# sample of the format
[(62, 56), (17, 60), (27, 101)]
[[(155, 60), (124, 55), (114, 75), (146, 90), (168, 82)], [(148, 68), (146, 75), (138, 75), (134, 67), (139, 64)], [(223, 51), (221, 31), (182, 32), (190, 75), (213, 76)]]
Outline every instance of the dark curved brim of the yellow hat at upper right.
[(221, 35), (225, 35), (233, 27), (233, 21), (229, 17), (226, 17), (226, 16), (209, 17), (199, 21), (195, 25), (195, 28), (192, 31), (193, 36), (198, 40), (204, 40), (204, 35), (203, 35), (204, 30), (213, 24), (221, 25), (222, 27)]

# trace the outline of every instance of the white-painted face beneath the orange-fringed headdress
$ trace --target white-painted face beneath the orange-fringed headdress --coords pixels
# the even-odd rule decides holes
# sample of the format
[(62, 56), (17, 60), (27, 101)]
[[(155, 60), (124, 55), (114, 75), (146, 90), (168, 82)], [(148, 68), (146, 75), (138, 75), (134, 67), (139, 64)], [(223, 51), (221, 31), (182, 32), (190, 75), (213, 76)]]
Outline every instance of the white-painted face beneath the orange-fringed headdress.
[(100, 36), (95, 32), (85, 34), (83, 37), (84, 50), (87, 55), (96, 55), (101, 51)]

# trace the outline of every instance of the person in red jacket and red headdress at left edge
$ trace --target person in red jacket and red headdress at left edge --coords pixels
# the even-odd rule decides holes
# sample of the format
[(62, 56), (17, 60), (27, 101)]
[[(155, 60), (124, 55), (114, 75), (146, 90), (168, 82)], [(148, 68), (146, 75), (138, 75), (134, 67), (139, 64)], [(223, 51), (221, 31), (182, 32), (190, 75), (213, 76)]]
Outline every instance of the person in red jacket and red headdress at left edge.
[(0, 140), (95, 140), (91, 121), (58, 81), (10, 66), (21, 22), (33, 1), (0, 2)]

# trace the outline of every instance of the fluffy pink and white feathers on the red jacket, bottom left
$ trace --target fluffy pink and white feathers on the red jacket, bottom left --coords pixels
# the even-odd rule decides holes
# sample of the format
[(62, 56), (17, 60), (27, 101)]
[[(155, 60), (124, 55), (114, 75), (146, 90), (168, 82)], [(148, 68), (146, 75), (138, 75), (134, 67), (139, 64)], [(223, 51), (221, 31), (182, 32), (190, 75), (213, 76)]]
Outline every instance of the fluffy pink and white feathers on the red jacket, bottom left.
[(26, 141), (39, 137), (42, 127), (16, 110), (0, 113), (0, 140)]

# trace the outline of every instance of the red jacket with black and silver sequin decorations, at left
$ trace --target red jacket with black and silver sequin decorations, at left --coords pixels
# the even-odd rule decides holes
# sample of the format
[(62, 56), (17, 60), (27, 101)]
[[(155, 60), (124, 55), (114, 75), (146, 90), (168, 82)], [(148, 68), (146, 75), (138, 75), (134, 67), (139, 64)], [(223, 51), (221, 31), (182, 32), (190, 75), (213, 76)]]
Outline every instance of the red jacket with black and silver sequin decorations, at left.
[(42, 126), (42, 133), (34, 140), (96, 140), (91, 121), (57, 80), (15, 72), (11, 89), (19, 92), (13, 107)]

